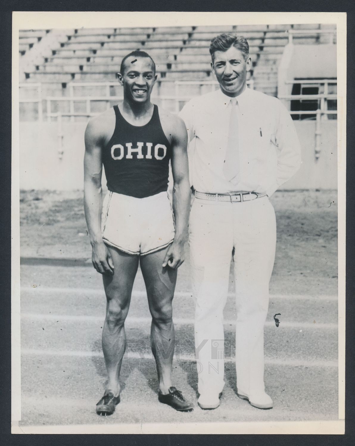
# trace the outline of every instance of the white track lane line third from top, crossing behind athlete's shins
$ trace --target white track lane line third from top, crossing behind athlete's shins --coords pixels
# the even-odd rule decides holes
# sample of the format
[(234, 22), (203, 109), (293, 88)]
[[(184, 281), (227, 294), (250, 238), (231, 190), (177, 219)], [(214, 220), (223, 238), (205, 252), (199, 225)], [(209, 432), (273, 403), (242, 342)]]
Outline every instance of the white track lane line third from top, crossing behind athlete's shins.
[[(81, 358), (92, 358), (101, 357), (103, 358), (103, 353), (100, 351), (82, 351), (82, 350), (36, 350), (33, 348), (22, 348), (21, 354), (25, 356), (77, 356)], [(142, 358), (143, 356), (143, 358)], [(154, 359), (153, 354), (146, 354), (145, 356), (138, 352), (129, 351), (125, 353), (125, 360), (129, 359)], [(193, 355), (178, 355), (174, 356), (173, 361), (186, 361), (194, 362), (196, 361)], [(235, 358), (225, 359), (225, 362), (235, 362)], [(292, 367), (338, 367), (337, 361), (307, 361), (303, 359), (271, 359), (265, 358), (265, 364), (268, 365), (279, 365), (279, 366), (292, 366)]]

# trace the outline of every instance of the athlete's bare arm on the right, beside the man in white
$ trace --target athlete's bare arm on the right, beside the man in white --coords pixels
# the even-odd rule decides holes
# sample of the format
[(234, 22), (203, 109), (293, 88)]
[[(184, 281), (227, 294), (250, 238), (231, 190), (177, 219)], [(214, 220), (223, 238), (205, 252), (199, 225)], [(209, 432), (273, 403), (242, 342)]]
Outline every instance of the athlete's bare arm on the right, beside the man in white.
[(171, 169), (174, 180), (172, 202), (175, 220), (174, 241), (167, 250), (163, 267), (169, 265), (175, 269), (184, 262), (184, 244), (188, 239), (191, 195), (188, 179), (188, 134), (184, 121), (178, 116), (162, 113), (161, 123), (168, 139), (171, 140)]

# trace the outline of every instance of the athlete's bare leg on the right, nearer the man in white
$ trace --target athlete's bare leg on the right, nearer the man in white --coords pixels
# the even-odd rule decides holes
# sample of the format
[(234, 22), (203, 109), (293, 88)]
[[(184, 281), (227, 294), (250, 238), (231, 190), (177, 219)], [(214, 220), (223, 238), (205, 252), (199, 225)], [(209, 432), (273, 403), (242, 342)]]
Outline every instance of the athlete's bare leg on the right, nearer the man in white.
[(176, 284), (177, 270), (163, 268), (167, 248), (140, 257), (140, 264), (152, 324), (150, 340), (159, 379), (159, 390), (169, 393), (171, 384), (171, 363), (175, 348), (175, 330), (172, 321), (172, 299)]

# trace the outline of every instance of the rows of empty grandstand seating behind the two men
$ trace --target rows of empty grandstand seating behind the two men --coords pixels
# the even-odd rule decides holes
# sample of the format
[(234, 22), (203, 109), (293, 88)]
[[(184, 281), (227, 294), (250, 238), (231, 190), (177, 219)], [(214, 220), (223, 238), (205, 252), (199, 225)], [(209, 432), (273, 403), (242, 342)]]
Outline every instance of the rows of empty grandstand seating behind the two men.
[[(20, 31), (19, 53), (20, 70), (24, 74), (21, 88), (21, 119), (27, 120), (32, 115), (35, 118), (46, 116), (49, 102), (46, 98), (66, 98), (69, 96), (120, 96), (119, 85), (115, 87), (82, 86), (68, 88), (71, 83), (116, 82), (122, 58), (132, 50), (148, 52), (156, 62), (158, 83), (155, 95), (175, 95), (175, 81), (213, 81), (210, 68), (209, 45), (211, 39), (221, 32), (235, 32), (244, 35), (250, 45), (250, 55), (253, 67), (250, 72), (256, 89), (270, 95), (277, 94), (277, 68), (284, 47), (288, 43), (289, 33), (295, 44), (327, 43), (330, 39), (327, 29), (333, 25), (236, 25), (236, 26), (181, 26), (157, 28), (105, 28), (105, 29), (68, 29), (57, 38), (57, 44), (50, 46), (48, 52), (37, 54), (37, 58), (27, 58), (26, 65), (21, 64), (25, 56), (36, 55), (36, 45), (48, 37), (49, 30)], [(307, 33), (304, 31), (308, 30)], [(28, 60), (35, 61), (33, 65)], [(40, 62), (38, 62), (40, 60)], [(39, 95), (39, 87), (29, 88), (33, 83), (41, 84), (42, 111), (39, 102), (30, 102), (33, 94)], [(198, 83), (181, 85), (180, 96), (188, 97), (200, 94), (211, 85), (202, 86)], [(31, 96), (32, 95), (32, 96)], [(51, 100), (50, 111), (83, 112), (88, 111), (83, 104), (76, 101), (74, 110), (68, 102)], [(181, 100), (182, 105), (184, 103)], [(98, 105), (99, 104), (99, 105)], [(104, 104), (104, 105), (102, 105)], [(90, 112), (100, 111), (106, 107), (100, 101), (89, 107)], [(53, 108), (52, 108), (53, 107)], [(68, 108), (69, 107), (69, 108)], [(169, 107), (168, 107), (169, 108)], [(174, 110), (174, 104), (170, 106)]]

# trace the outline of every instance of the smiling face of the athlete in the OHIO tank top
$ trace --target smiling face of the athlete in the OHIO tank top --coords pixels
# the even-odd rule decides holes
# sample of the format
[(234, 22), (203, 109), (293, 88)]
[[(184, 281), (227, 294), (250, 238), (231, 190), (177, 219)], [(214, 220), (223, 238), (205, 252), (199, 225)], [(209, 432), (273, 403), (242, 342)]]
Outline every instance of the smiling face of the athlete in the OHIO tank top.
[(118, 82), (123, 85), (124, 97), (134, 102), (150, 99), (157, 75), (149, 57), (130, 56), (124, 62), (123, 73), (117, 73)]

